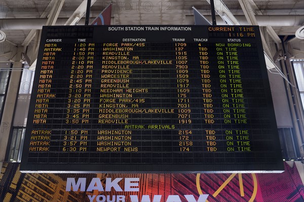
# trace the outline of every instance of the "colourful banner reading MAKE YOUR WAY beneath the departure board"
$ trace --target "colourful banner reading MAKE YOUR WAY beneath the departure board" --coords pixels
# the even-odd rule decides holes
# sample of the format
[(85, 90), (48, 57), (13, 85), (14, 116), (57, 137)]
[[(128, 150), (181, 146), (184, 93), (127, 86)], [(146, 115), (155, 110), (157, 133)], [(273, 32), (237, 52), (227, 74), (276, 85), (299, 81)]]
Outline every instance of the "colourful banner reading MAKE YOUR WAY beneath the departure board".
[(287, 163), (285, 172), (267, 174), (24, 174), (4, 163), (0, 176), (5, 202), (304, 201), (300, 174)]

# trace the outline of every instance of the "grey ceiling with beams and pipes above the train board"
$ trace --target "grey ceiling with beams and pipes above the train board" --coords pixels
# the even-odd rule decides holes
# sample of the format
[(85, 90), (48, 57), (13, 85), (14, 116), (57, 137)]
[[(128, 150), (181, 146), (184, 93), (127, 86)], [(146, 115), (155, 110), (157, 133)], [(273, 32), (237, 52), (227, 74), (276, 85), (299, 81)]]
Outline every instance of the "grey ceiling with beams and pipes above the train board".
[[(90, 21), (110, 3), (92, 0)], [(10, 62), (34, 63), (42, 26), (74, 25), (76, 22), (83, 25), (86, 5), (86, 0), (2, 0), (0, 41), (3, 42), (0, 42), (0, 68), (6, 67)], [(111, 24), (193, 25), (192, 7), (211, 22), (211, 7), (206, 0), (113, 0)], [(259, 26), (267, 28), (269, 36), (265, 38), (276, 43), (280, 43), (277, 35), (295, 35), (304, 25), (304, 0), (215, 0), (215, 10), (217, 24), (225, 24), (220, 15), (231, 15), (241, 25), (249, 25), (248, 19), (251, 17)], [(6, 35), (5, 39), (1, 39), (1, 33)], [(293, 48), (298, 51), (296, 57), (304, 58), (304, 39), (292, 40)]]

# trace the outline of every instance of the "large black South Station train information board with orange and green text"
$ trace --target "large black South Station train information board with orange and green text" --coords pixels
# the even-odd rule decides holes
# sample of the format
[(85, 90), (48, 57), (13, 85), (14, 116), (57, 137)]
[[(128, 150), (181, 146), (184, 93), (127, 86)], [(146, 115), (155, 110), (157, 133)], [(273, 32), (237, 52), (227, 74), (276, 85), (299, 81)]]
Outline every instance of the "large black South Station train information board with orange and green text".
[(22, 172), (282, 172), (257, 26), (46, 26)]

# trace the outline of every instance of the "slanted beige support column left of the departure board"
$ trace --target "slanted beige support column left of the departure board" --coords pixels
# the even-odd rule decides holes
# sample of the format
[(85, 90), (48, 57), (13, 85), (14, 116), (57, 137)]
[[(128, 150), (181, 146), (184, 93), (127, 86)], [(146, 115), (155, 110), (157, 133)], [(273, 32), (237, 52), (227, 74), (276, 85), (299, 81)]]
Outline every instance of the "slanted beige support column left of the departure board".
[[(22, 68), (22, 63), (14, 62), (14, 68)], [(12, 71), (10, 81), (8, 84), (8, 90), (6, 100), (4, 103), (3, 115), (0, 125), (0, 162), (5, 161), (6, 151), (8, 145), (11, 127), (13, 124), (13, 114), (15, 105), (17, 102), (18, 86), (20, 83), (21, 71)]]

